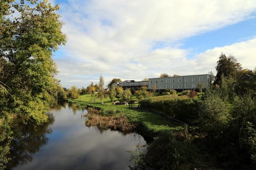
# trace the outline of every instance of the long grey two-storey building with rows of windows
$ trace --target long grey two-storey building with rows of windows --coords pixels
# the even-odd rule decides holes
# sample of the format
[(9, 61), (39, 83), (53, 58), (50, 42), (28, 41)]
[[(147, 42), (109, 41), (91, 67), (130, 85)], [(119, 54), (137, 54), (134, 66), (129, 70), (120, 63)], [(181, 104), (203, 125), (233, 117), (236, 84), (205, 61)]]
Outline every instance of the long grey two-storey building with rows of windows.
[(149, 90), (164, 91), (166, 89), (174, 89), (177, 91), (198, 89), (201, 83), (203, 89), (210, 87), (214, 81), (214, 76), (210, 74), (184, 75), (178, 77), (167, 78), (150, 78), (148, 79)]

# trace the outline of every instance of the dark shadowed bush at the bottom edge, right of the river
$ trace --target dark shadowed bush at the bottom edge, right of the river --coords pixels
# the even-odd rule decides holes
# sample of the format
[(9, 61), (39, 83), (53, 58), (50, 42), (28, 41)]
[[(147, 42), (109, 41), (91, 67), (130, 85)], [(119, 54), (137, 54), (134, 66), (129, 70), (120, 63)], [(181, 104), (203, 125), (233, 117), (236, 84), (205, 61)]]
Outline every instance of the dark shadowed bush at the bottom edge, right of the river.
[(199, 149), (187, 141), (175, 139), (170, 131), (163, 131), (151, 142), (147, 151), (133, 155), (133, 169), (201, 169), (203, 156)]

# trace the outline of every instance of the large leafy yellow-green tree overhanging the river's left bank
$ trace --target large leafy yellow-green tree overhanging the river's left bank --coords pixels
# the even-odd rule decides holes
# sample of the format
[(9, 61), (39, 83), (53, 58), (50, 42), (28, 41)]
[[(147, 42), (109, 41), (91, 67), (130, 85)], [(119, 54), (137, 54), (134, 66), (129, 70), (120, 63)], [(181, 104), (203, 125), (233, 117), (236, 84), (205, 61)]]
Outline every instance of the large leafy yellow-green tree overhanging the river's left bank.
[(47, 99), (58, 81), (52, 53), (66, 42), (62, 22), (47, 0), (0, 2), (0, 114), (47, 121)]

